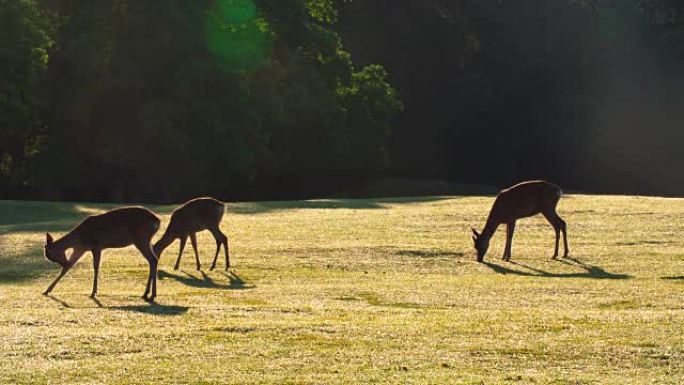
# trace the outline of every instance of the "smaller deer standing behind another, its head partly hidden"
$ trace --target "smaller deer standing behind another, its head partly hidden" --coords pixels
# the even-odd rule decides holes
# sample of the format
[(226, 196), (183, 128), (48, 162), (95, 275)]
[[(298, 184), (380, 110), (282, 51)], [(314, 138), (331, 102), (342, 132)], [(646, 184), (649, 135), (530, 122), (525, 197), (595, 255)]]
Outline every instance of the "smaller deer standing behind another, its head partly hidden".
[(171, 222), (166, 228), (164, 235), (154, 244), (154, 253), (161, 258), (164, 249), (169, 247), (174, 240), (180, 239), (180, 251), (178, 252), (178, 259), (176, 260), (175, 270), (178, 270), (180, 259), (185, 249), (185, 242), (190, 237), (192, 248), (195, 250), (195, 262), (197, 263), (197, 270), (201, 269), (199, 262), (199, 254), (197, 253), (197, 237), (195, 233), (202, 230), (209, 230), (211, 235), (216, 240), (216, 254), (214, 254), (214, 261), (211, 263), (210, 270), (216, 267), (216, 260), (218, 259), (221, 245), (226, 254), (226, 270), (230, 268), (230, 258), (228, 256), (228, 237), (225, 236), (219, 229), (219, 224), (223, 218), (225, 206), (223, 202), (214, 198), (196, 198), (183, 204), (171, 214)]

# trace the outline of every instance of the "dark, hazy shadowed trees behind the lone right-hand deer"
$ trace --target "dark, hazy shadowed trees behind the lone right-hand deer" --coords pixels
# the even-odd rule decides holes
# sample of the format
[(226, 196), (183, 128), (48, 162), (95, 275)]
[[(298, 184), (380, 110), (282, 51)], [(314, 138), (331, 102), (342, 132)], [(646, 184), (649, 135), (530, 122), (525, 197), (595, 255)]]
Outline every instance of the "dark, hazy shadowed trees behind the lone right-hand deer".
[(338, 30), (406, 105), (390, 172), (684, 193), (684, 3), (340, 0)]

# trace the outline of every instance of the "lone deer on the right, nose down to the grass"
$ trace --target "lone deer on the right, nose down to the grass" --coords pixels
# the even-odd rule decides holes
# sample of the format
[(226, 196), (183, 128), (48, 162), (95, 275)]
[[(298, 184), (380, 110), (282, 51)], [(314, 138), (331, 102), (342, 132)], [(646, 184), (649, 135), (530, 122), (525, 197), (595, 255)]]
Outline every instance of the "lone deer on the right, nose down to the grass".
[(522, 182), (499, 192), (482, 233), (478, 233), (477, 230), (471, 227), (475, 249), (477, 250), (477, 260), (482, 262), (485, 254), (487, 254), (489, 240), (492, 238), (492, 235), (494, 235), (500, 224), (505, 224), (507, 226), (506, 247), (501, 259), (510, 261), (515, 221), (539, 213), (551, 223), (551, 226), (556, 231), (556, 250), (553, 253), (553, 258), (558, 257), (558, 241), (561, 231), (563, 232), (563, 246), (565, 247), (565, 254), (563, 256), (567, 257), (568, 239), (565, 232), (565, 221), (556, 213), (556, 205), (562, 194), (563, 192), (560, 187), (541, 180)]

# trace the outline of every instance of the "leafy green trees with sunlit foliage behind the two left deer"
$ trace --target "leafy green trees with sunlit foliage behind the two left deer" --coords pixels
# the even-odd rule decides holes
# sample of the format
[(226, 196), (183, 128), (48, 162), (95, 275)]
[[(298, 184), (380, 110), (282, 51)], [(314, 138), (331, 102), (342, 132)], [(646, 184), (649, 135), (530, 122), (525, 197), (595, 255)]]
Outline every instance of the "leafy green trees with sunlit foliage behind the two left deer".
[(0, 4), (2, 196), (276, 198), (387, 167), (402, 104), (330, 2)]

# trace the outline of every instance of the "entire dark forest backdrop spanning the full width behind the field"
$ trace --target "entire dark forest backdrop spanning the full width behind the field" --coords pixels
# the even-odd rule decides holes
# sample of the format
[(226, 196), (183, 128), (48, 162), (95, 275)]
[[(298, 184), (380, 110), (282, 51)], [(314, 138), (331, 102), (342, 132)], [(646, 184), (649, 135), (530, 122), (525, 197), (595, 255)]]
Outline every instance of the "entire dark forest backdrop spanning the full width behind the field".
[(0, 199), (684, 193), (676, 0), (0, 0)]

